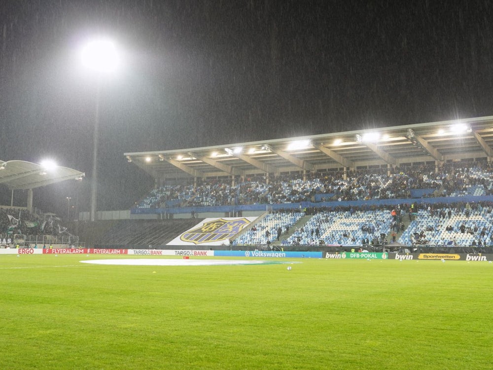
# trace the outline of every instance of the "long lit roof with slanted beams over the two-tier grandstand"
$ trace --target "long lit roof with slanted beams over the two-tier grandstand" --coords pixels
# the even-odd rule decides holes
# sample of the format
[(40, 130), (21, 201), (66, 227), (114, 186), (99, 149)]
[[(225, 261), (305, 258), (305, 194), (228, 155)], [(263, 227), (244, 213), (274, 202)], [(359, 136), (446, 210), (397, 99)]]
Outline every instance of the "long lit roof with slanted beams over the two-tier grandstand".
[(124, 153), (157, 180), (493, 158), (493, 116), (204, 148)]

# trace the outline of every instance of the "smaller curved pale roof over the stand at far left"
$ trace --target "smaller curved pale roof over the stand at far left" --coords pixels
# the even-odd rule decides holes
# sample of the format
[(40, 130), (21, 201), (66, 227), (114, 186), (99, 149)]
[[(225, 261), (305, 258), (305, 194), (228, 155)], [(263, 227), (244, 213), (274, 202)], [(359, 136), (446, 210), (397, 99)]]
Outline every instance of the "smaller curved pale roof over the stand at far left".
[(83, 172), (67, 167), (46, 167), (26, 161), (4, 162), (0, 160), (0, 184), (12, 190), (34, 189), (65, 180), (81, 179), (84, 176)]

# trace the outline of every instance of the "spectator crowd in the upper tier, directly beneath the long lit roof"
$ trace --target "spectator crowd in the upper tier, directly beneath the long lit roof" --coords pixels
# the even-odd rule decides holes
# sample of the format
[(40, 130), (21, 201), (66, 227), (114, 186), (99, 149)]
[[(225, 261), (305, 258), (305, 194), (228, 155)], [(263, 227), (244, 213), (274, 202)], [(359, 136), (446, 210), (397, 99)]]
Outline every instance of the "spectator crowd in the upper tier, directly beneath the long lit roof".
[(434, 165), (358, 169), (348, 171), (346, 178), (342, 171), (328, 171), (309, 173), (306, 179), (294, 173), (270, 182), (258, 176), (240, 180), (234, 186), (221, 180), (163, 185), (153, 189), (136, 208), (402, 199), (412, 198), (415, 189), (428, 190), (423, 197), (493, 193), (493, 170), (483, 162), (452, 162), (438, 171)]

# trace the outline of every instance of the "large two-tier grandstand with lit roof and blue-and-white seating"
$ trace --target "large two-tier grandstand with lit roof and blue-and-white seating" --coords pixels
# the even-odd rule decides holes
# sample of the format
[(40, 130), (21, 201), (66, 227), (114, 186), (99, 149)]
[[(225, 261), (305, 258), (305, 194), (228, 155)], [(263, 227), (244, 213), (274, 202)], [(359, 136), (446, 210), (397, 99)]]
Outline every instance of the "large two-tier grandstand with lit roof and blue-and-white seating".
[(218, 248), (486, 248), (492, 144), (489, 116), (125, 153), (155, 187), (127, 220), (70, 227), (89, 245), (168, 248), (206, 218), (253, 218)]

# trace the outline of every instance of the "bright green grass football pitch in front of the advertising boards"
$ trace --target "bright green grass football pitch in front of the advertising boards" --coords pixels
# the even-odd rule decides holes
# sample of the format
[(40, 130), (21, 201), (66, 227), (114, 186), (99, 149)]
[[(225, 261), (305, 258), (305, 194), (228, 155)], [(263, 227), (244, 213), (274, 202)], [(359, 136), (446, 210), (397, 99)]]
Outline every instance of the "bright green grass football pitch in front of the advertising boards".
[(132, 257), (0, 255), (1, 369), (493, 364), (488, 262), (292, 259), (303, 263), (291, 271), (78, 262), (102, 258)]

